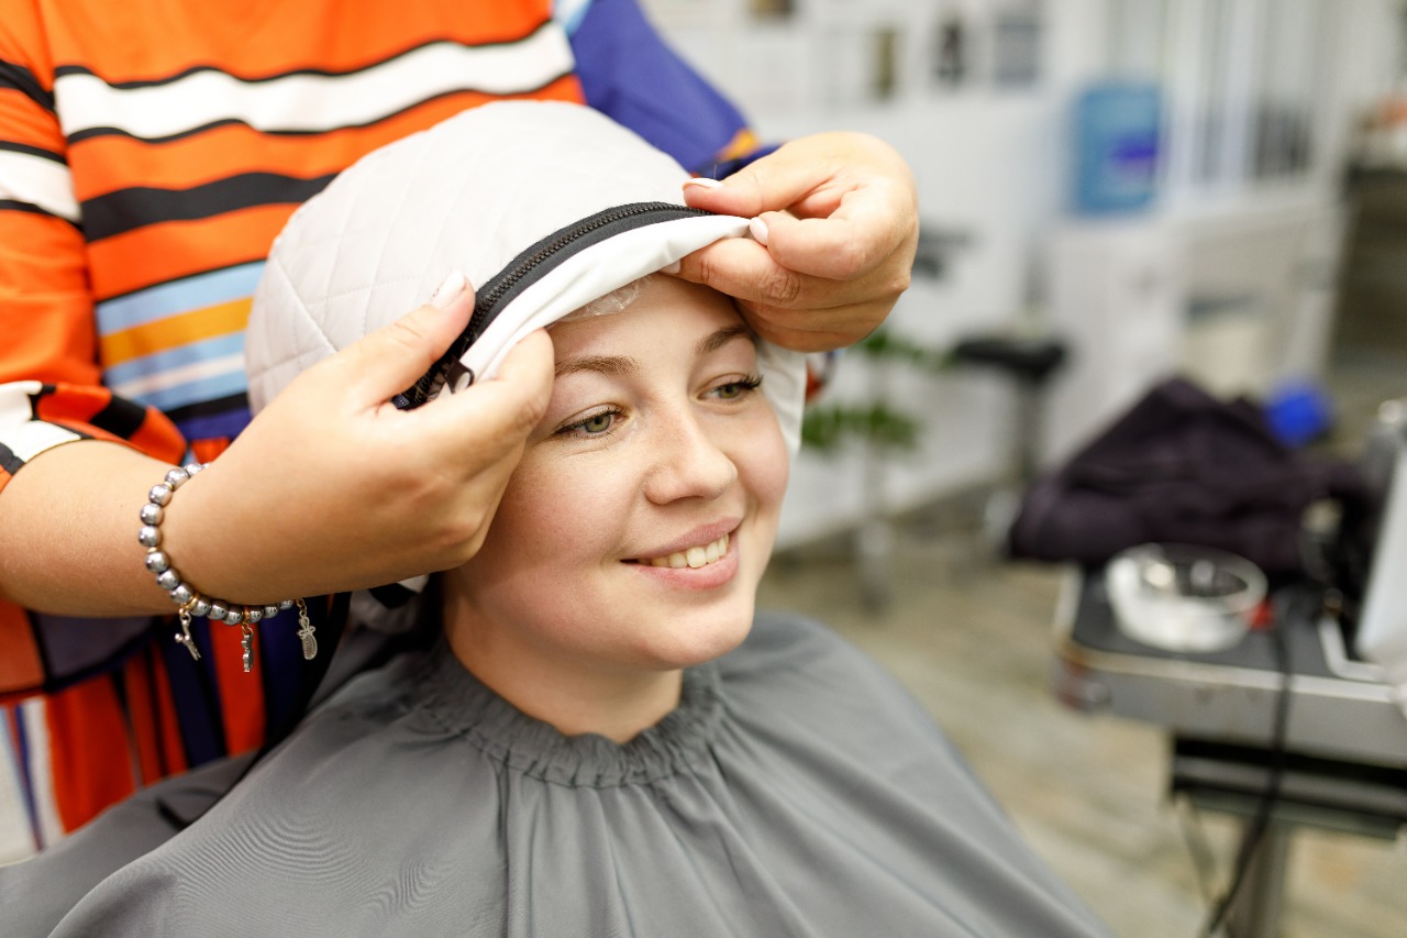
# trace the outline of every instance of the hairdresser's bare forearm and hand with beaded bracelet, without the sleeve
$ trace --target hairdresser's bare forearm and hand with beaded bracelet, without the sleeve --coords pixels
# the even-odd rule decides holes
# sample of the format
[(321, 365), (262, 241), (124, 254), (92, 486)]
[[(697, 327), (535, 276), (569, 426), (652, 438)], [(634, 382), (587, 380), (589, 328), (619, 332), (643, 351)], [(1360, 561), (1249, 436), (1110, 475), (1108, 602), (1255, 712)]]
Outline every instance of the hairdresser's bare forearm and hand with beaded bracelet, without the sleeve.
[[(552, 346), (530, 337), (474, 393), (397, 411), (388, 399), (469, 321), (473, 293), (452, 293), (447, 308), (415, 310), (310, 369), (182, 487), (162, 531), (189, 582), (231, 601), (272, 603), (443, 569), (478, 549), (546, 407)], [(0, 384), (0, 414), (28, 415), (32, 390)], [(0, 445), (7, 435), (37, 438), (38, 425), (0, 424)], [(0, 596), (73, 615), (172, 611), (142, 568), (135, 532), (146, 490), (179, 451), (167, 445), (153, 458), (84, 438), (30, 455), (23, 468), (11, 459), (18, 472), (0, 490)]]

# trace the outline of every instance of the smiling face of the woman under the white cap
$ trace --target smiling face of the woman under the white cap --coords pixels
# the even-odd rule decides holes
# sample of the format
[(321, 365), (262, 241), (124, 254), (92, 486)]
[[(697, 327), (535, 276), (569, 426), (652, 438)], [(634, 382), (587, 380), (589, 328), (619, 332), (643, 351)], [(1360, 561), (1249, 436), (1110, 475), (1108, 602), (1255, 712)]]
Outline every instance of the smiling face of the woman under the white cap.
[(483, 549), (450, 575), (473, 645), (515, 649), (518, 668), (727, 652), (751, 625), (788, 470), (754, 339), (730, 300), (668, 276), (552, 338), (547, 414)]

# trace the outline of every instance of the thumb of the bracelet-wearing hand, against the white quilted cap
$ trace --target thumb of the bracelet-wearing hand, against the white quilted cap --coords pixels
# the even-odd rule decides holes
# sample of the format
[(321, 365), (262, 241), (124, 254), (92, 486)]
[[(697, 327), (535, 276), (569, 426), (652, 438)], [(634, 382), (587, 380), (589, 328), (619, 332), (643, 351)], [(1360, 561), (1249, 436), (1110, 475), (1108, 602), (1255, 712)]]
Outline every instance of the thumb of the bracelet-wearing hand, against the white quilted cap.
[(429, 303), (383, 325), (332, 356), (343, 386), (362, 403), (380, 404), (418, 382), (469, 325), (474, 290), (453, 273)]

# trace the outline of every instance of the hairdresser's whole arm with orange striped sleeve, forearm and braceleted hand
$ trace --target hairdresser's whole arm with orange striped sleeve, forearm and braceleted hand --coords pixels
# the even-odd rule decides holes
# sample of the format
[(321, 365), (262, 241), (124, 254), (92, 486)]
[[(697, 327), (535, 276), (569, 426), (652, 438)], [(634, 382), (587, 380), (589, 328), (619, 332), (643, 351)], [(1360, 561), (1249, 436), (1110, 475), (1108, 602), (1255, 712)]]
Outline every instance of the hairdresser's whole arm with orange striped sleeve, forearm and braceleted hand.
[[(0, 18), (0, 600), (68, 615), (172, 613), (144, 569), (136, 513), (187, 442), (159, 411), (100, 386), (80, 227), (93, 193), (69, 172), (34, 7), (14, 14)], [(312, 369), (182, 487), (162, 530), (187, 582), (270, 603), (477, 549), (546, 404), (550, 344), (525, 344), (471, 394), (394, 411), (388, 399), (470, 315), (469, 290), (442, 299), (446, 308), (416, 310)]]

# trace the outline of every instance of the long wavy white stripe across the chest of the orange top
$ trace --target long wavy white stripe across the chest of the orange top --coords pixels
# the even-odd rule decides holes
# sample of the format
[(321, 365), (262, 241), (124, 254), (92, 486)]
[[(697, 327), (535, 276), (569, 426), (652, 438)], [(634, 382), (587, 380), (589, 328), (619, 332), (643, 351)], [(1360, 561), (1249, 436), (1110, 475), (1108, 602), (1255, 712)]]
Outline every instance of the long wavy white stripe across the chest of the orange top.
[(528, 92), (571, 68), (566, 34), (549, 24), (511, 45), (436, 42), (352, 75), (246, 82), (194, 72), (166, 85), (115, 89), (75, 73), (53, 83), (53, 96), (66, 135), (115, 127), (153, 139), (229, 120), (260, 131), (328, 131), (370, 124), (449, 92)]

